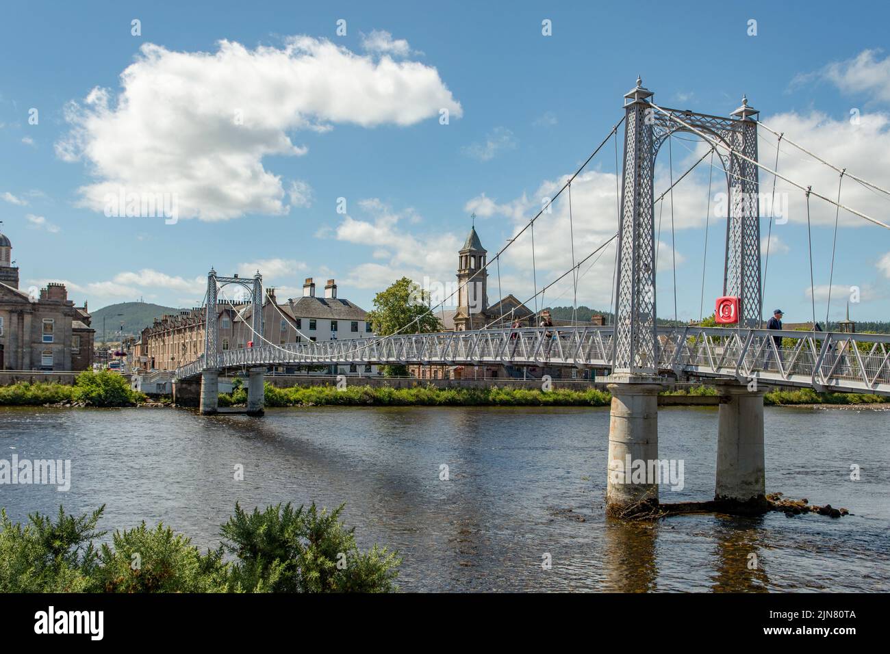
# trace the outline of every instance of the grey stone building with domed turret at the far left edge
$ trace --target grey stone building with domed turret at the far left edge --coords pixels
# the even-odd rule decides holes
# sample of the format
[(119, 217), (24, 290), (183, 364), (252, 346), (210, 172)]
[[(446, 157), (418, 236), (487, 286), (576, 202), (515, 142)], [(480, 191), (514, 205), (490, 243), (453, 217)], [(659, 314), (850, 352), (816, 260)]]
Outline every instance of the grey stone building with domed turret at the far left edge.
[(0, 370), (86, 370), (93, 367), (86, 303), (76, 307), (62, 284), (32, 297), (19, 289), (12, 243), (0, 234)]

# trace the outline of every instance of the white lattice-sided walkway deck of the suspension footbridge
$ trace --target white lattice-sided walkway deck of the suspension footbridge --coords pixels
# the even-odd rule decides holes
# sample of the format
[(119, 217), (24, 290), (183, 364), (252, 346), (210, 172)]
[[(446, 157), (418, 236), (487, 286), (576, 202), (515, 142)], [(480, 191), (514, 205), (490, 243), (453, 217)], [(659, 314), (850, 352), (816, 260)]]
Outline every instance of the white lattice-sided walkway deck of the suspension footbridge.
[[(659, 373), (890, 395), (890, 335), (662, 327)], [(781, 339), (781, 344), (776, 343)], [(291, 343), (202, 355), (177, 378), (251, 366), (444, 364), (611, 367), (613, 327), (528, 327)]]

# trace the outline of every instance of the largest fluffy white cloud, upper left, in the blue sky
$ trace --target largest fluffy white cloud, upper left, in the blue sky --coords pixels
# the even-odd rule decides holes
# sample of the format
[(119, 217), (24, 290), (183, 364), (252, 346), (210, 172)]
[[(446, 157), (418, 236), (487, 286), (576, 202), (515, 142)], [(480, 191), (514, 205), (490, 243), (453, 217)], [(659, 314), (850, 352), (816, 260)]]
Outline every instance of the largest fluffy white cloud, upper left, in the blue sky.
[(309, 36), (253, 50), (221, 41), (216, 52), (144, 44), (120, 81), (117, 95), (97, 87), (69, 103), (70, 130), (56, 143), (59, 157), (87, 164), (94, 182), (79, 192), (97, 211), (124, 190), (173, 195), (180, 217), (206, 221), (287, 214), (306, 206), (308, 186), (286, 192), (263, 157), (304, 155), (295, 131), (462, 115), (433, 67)]

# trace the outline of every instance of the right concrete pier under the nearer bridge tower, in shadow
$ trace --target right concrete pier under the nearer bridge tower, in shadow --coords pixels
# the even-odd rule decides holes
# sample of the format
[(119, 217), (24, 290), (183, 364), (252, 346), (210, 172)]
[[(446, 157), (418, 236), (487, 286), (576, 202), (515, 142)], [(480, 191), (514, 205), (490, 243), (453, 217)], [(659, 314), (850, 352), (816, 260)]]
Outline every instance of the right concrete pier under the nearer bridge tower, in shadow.
[(764, 393), (745, 384), (718, 384), (714, 498), (756, 511), (765, 505)]

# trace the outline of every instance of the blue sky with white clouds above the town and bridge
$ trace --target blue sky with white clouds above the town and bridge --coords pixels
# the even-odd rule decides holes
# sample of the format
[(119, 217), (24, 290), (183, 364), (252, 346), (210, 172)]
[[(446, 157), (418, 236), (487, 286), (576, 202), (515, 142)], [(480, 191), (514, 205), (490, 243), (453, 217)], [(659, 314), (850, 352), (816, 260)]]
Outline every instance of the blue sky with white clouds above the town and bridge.
[[(452, 283), (469, 214), (496, 251), (619, 120), (638, 74), (656, 102), (679, 109), (726, 115), (746, 93), (767, 125), (890, 185), (890, 61), (880, 50), (890, 12), (882, 4), (808, 3), (805, 12), (795, 3), (688, 12), (663, 3), (368, 5), (7, 5), (0, 230), (12, 239), (21, 286), (64, 280), (93, 309), (139, 296), (184, 306), (200, 301), (211, 265), (227, 274), (260, 267), (284, 295), (297, 295), (304, 277), (333, 277), (340, 295), (369, 309), (402, 274)], [(134, 19), (141, 36), (131, 34)], [(336, 33), (341, 19), (345, 36)], [(751, 19), (756, 36), (748, 36)], [(542, 35), (542, 20), (552, 21), (552, 36)], [(28, 124), (32, 108), (37, 125)], [(772, 143), (760, 142), (771, 167)], [(701, 148), (672, 142), (675, 175)], [(837, 173), (804, 159), (783, 146), (779, 170), (833, 197)], [(658, 166), (663, 190), (667, 149)], [(614, 170), (610, 143), (574, 187), (577, 259), (616, 229)], [(720, 174), (710, 203), (706, 166), (676, 187), (681, 319), (700, 313), (706, 207)], [(760, 179), (772, 188), (769, 175)], [(106, 216), (101, 198), (122, 185), (177, 194), (179, 220)], [(788, 193), (789, 221), (773, 227), (765, 304), (804, 321), (812, 309), (802, 194), (783, 182), (778, 191)], [(855, 183), (842, 189), (842, 202), (885, 222), (888, 201)], [(527, 239), (505, 257), (504, 295), (525, 299), (536, 281), (571, 265), (563, 204), (536, 227), (534, 280)], [(834, 211), (812, 206), (824, 319)], [(669, 218), (667, 205), (664, 317), (674, 315)], [(721, 291), (725, 226), (708, 222), (706, 314)], [(853, 317), (886, 319), (890, 233), (849, 214), (840, 224), (832, 318), (856, 286)], [(608, 306), (613, 254), (607, 249), (580, 279), (578, 303)], [(497, 282), (492, 275), (492, 302)], [(572, 296), (563, 284), (545, 301)]]

